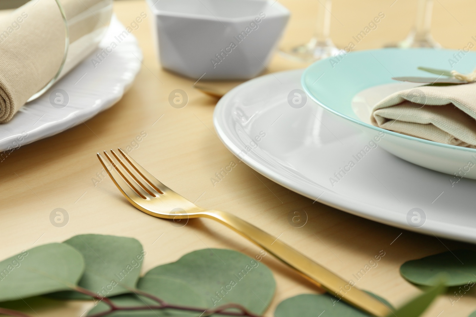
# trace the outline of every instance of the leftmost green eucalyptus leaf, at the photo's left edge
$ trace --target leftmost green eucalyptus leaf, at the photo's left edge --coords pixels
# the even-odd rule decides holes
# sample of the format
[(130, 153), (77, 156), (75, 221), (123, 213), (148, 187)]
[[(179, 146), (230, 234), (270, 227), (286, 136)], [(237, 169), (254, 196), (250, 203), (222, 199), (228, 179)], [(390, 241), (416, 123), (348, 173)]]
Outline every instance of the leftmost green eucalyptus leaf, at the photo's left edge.
[(76, 286), (84, 259), (76, 249), (50, 243), (0, 262), (0, 301), (17, 300)]

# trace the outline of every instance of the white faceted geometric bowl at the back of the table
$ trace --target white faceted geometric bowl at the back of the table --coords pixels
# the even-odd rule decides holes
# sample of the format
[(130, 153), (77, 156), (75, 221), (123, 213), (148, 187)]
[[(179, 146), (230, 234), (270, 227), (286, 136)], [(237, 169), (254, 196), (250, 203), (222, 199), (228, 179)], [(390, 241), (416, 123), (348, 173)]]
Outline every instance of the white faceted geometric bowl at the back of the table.
[(147, 0), (162, 67), (191, 78), (249, 79), (289, 18), (274, 0)]

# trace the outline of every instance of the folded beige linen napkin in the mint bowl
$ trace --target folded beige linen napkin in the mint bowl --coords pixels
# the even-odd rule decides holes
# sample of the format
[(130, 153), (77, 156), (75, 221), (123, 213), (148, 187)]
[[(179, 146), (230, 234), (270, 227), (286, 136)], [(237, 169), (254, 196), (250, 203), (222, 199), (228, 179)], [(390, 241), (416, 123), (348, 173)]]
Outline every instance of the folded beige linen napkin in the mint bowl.
[(476, 83), (399, 91), (374, 106), (371, 121), (386, 130), (476, 148)]

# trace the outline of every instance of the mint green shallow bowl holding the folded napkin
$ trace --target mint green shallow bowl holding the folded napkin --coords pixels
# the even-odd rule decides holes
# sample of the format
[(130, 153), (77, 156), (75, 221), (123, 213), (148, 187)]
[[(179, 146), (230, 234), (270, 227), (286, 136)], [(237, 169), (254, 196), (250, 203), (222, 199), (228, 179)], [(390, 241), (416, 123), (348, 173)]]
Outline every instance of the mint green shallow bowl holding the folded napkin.
[[(457, 53), (456, 50), (430, 48), (385, 48), (349, 53), (338, 58), (326, 58), (307, 67), (301, 77), (301, 84), (318, 105), (357, 125), (369, 138), (385, 133), (379, 145), (388, 152), (438, 172), (457, 173), (465, 178), (476, 179), (476, 167), (467, 168), (470, 161), (476, 164), (476, 149), (388, 131), (364, 122), (352, 108), (354, 96), (363, 90), (384, 84), (398, 85), (392, 77), (434, 77), (418, 70), (419, 66), (472, 72), (476, 67), (476, 53), (469, 52), (464, 56), (460, 53), (462, 58), (458, 58), (459, 61), (453, 56)], [(453, 68), (449, 59), (457, 62)]]

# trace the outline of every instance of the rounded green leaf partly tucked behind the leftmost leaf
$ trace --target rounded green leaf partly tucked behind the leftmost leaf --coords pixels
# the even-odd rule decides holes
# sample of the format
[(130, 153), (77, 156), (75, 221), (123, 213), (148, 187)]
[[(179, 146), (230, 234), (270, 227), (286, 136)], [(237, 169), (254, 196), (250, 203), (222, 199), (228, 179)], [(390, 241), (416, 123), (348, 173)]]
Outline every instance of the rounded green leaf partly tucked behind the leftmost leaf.
[[(133, 238), (100, 234), (82, 234), (63, 242), (78, 250), (84, 257), (86, 269), (79, 286), (101, 296), (129, 293), (135, 288), (145, 252)], [(90, 299), (74, 291), (52, 294), (54, 298)]]

